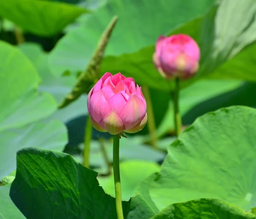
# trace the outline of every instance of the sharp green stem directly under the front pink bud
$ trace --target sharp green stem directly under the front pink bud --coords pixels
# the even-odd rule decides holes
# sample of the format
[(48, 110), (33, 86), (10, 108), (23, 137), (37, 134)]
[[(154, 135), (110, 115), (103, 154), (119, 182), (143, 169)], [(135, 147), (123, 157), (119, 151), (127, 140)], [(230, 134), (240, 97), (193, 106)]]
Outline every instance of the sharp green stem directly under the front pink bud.
[(116, 213), (117, 219), (124, 219), (122, 213), (122, 195), (121, 195), (121, 181), (119, 170), (119, 134), (114, 135), (113, 138), (113, 173), (116, 192)]

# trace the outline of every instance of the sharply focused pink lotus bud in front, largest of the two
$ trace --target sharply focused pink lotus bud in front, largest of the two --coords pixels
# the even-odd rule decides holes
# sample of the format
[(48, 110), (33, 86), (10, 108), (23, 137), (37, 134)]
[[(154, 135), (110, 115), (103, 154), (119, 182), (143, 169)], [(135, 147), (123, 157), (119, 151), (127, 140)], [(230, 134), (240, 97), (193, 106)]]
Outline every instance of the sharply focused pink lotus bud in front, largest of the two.
[(93, 127), (100, 132), (137, 133), (147, 122), (141, 87), (121, 73), (105, 73), (90, 90), (87, 107)]

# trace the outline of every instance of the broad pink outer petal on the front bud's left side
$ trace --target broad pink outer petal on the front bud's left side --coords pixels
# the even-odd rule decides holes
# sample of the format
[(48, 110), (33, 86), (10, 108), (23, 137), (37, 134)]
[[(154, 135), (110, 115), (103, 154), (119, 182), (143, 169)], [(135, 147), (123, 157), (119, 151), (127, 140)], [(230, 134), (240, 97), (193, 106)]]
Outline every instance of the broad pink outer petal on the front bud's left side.
[(93, 93), (89, 104), (90, 115), (96, 122), (99, 122), (103, 117), (111, 112), (111, 108), (109, 107), (101, 90)]

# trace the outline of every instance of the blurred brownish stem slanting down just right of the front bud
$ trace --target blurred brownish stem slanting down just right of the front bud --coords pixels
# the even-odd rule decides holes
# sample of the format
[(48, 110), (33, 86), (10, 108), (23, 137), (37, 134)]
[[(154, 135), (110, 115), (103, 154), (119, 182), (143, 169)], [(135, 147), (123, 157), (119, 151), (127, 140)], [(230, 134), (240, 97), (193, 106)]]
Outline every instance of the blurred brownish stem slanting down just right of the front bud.
[(153, 104), (150, 97), (148, 86), (142, 86), (143, 95), (147, 103), (147, 114), (148, 114), (148, 131), (151, 138), (151, 145), (157, 148), (157, 136), (156, 136), (156, 124), (154, 120)]

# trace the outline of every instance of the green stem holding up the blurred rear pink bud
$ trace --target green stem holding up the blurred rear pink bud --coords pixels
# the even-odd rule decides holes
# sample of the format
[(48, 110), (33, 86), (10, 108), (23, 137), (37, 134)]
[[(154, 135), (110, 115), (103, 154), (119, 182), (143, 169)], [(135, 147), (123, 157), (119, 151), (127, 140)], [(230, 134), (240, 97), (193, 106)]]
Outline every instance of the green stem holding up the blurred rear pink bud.
[(173, 104), (174, 104), (174, 123), (175, 123), (175, 133), (178, 137), (181, 133), (181, 117), (179, 112), (179, 92), (180, 92), (180, 78), (175, 78), (175, 90), (173, 95)]

